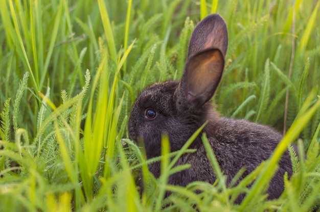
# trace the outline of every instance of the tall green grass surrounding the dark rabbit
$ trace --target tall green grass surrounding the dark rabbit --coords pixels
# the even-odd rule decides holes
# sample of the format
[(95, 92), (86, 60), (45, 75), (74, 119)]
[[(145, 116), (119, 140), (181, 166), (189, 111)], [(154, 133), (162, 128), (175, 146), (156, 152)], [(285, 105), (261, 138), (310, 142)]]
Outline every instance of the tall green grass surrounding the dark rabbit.
[[(320, 205), (318, 1), (1, 3), (0, 211), (312, 211)], [(127, 121), (145, 86), (179, 79), (192, 30), (211, 12), (224, 17), (229, 34), (213, 98), (217, 110), (287, 133), (270, 160), (236, 187), (226, 187), (207, 148), (218, 180), (181, 188), (166, 182), (189, 167), (174, 167), (174, 160), (194, 151), (192, 138), (169, 153), (164, 137), (163, 156), (146, 161), (128, 138)], [(294, 174), (284, 176), (279, 199), (266, 200), (266, 185), (291, 142), (300, 150), (291, 153)], [(205, 137), (203, 144), (208, 147)], [(147, 168), (155, 161), (162, 162), (158, 179)], [(164, 199), (166, 190), (173, 195)], [(234, 205), (241, 192), (246, 198)]]

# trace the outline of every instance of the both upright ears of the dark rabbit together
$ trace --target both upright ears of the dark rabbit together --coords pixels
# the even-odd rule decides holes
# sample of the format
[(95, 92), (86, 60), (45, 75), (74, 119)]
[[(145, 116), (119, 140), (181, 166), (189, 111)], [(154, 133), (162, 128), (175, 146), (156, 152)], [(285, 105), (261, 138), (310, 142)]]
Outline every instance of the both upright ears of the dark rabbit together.
[(180, 112), (200, 109), (214, 95), (221, 80), (228, 33), (218, 14), (205, 17), (192, 33), (188, 60), (174, 93)]

